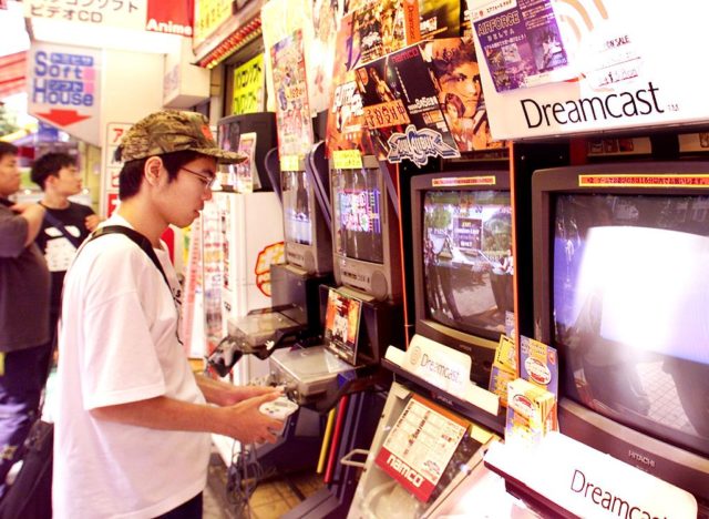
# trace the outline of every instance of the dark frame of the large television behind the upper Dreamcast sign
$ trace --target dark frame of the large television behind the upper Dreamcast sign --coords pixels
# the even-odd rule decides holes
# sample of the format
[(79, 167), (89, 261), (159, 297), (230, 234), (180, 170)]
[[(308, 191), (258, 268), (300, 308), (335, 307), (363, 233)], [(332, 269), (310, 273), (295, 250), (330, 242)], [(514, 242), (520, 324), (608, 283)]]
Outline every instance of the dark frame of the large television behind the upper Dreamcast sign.
[[(462, 179), (472, 176), (494, 176), (494, 184), (467, 184), (467, 185), (441, 185), (434, 186), (435, 179)], [(480, 328), (479, 334), (463, 332), (427, 315), (425, 311), (425, 282), (423, 268), (423, 197), (431, 191), (508, 191), (512, 208), (511, 179), (508, 169), (484, 169), (443, 171), (415, 175), (411, 179), (411, 230), (413, 250), (413, 297), (415, 315), (415, 333), (423, 335), (436, 343), (441, 343), (459, 352), (471, 356), (471, 380), (481, 387), (487, 388), (490, 373), (495, 356), (495, 349), (503, 333)], [(513, 215), (514, 218), (514, 215)], [(513, 292), (516, 291), (516, 276), (513, 276)], [(491, 338), (496, 335), (496, 338)]]

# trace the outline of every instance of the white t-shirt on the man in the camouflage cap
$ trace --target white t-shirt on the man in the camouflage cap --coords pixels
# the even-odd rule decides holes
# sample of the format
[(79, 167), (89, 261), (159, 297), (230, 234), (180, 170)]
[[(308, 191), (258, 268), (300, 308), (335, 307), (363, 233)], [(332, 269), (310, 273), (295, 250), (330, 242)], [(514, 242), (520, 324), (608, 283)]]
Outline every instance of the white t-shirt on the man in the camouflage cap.
[[(130, 226), (117, 215), (104, 223), (115, 224)], [(167, 252), (155, 253), (177, 287)], [(135, 243), (114, 234), (81, 250), (64, 283), (59, 343), (56, 519), (155, 517), (204, 489), (208, 434), (115, 424), (89, 413), (157, 396), (204, 403), (176, 334), (173, 294)]]

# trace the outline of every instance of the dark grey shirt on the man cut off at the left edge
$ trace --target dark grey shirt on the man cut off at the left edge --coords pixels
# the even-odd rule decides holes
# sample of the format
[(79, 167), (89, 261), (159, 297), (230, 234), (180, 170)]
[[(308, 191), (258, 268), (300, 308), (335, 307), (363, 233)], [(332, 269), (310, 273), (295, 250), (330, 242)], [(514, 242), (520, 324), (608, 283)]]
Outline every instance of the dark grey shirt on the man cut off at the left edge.
[(28, 222), (0, 199), (0, 352), (49, 342), (50, 275), (39, 247), (24, 246)]

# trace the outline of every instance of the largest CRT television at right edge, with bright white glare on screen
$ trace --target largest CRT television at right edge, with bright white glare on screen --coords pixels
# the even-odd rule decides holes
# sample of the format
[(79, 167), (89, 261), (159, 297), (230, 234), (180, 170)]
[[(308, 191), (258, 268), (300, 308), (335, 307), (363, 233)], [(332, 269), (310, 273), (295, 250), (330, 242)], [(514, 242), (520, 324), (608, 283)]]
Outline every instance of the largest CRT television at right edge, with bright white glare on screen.
[(534, 323), (564, 434), (709, 501), (709, 162), (532, 179)]

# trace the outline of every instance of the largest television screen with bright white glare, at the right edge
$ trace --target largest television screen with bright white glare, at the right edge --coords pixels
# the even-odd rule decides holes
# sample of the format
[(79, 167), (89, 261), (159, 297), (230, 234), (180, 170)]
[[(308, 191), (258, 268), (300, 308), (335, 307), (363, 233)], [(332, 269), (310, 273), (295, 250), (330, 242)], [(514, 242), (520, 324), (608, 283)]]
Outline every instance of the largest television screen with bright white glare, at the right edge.
[(558, 194), (551, 208), (566, 395), (709, 455), (709, 196)]

